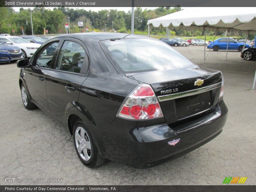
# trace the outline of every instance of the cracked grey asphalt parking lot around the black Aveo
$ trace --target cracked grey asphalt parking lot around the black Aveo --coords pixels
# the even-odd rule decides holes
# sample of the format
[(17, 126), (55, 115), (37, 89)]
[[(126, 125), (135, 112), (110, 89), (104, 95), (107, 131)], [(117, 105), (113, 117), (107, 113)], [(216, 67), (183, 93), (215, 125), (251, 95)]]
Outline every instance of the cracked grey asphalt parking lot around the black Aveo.
[[(85, 167), (76, 155), (68, 130), (40, 109), (23, 107), (16, 63), (0, 64), (1, 135), (0, 184), (4, 178), (62, 179), (66, 185), (221, 185), (225, 177), (256, 182), (256, 90), (252, 90), (256, 61), (240, 52), (206, 51), (204, 47), (175, 47), (194, 63), (221, 70), (224, 101), (229, 109), (223, 132), (204, 146), (150, 169), (134, 169), (112, 161)], [(19, 184), (19, 183), (9, 183)], [(25, 183), (20, 183), (25, 184)], [(44, 184), (44, 183), (33, 183)], [(58, 183), (47, 183), (58, 184)]]

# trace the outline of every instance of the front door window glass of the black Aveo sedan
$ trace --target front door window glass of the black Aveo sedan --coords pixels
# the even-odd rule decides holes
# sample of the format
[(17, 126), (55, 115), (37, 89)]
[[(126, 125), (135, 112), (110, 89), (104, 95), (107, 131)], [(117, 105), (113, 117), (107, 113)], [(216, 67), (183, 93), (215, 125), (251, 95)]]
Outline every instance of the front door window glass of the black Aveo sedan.
[(36, 67), (51, 68), (52, 57), (59, 42), (46, 45), (37, 55)]

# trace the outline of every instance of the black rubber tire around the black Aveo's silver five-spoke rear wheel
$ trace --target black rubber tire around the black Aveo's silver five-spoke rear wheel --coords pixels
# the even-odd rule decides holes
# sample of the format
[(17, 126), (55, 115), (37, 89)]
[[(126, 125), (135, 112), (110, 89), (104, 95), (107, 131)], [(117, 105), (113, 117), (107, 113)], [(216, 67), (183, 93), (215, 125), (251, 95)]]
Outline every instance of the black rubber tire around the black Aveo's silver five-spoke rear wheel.
[[(79, 152), (78, 152), (78, 149), (77, 149), (77, 145), (76, 145), (76, 129), (79, 129), (79, 127), (82, 127), (84, 130), (85, 130), (85, 137), (84, 138), (87, 138), (89, 139), (89, 142), (90, 142), (90, 145), (91, 145), (91, 149), (90, 149), (90, 159), (89, 160), (85, 160), (83, 159), (82, 156), (80, 156)], [(79, 133), (79, 132), (77, 132)], [(81, 134), (81, 131), (80, 131), (80, 134)], [(79, 135), (80, 137), (80, 135)], [(73, 141), (74, 141), (74, 146), (75, 146), (75, 149), (76, 149), (76, 154), (77, 156), (79, 157), (80, 161), (82, 161), (82, 163), (84, 165), (86, 165), (87, 167), (90, 167), (90, 168), (93, 168), (93, 167), (98, 167), (100, 165), (102, 165), (104, 162), (105, 162), (105, 158), (101, 157), (99, 152), (98, 152), (98, 149), (95, 145), (95, 141), (92, 139), (92, 135), (90, 133), (90, 131), (88, 130), (88, 128), (86, 127), (86, 125), (84, 124), (83, 121), (81, 120), (78, 120), (74, 127), (73, 127)], [(88, 141), (87, 141), (88, 142)], [(80, 145), (81, 143), (78, 142), (78, 145)], [(84, 153), (84, 150), (83, 150), (83, 153)], [(86, 149), (86, 153), (87, 153), (87, 149)]]

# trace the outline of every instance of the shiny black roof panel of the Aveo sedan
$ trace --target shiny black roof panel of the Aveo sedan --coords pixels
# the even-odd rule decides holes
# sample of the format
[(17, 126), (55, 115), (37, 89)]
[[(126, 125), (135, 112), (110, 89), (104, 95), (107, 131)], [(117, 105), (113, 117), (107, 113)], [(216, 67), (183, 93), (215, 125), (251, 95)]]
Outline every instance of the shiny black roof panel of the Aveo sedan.
[(104, 32), (103, 33), (75, 33), (75, 34), (60, 35), (56, 37), (70, 37), (70, 36), (76, 37), (76, 38), (89, 38), (89, 39), (93, 37), (95, 39), (98, 39), (99, 41), (106, 40), (106, 39), (118, 39), (118, 38), (149, 38), (146, 36), (132, 35), (127, 33), (104, 33)]

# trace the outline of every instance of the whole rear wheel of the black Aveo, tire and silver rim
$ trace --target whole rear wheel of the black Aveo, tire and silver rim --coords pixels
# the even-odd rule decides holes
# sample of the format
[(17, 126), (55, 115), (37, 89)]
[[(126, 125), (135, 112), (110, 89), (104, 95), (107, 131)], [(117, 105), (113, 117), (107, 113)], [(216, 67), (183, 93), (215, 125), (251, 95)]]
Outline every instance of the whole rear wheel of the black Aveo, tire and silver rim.
[(83, 121), (77, 121), (73, 128), (76, 153), (82, 163), (88, 167), (98, 167), (105, 162), (100, 156), (91, 133)]

